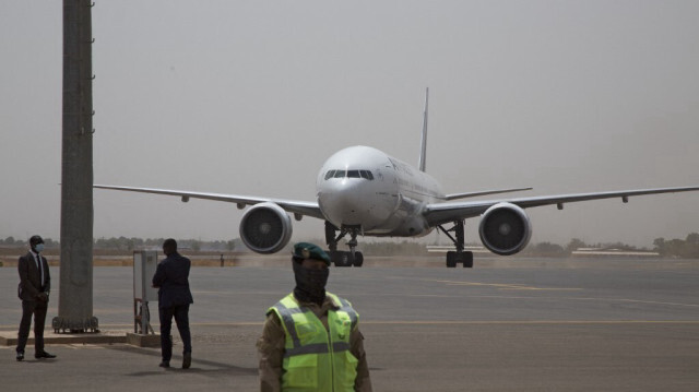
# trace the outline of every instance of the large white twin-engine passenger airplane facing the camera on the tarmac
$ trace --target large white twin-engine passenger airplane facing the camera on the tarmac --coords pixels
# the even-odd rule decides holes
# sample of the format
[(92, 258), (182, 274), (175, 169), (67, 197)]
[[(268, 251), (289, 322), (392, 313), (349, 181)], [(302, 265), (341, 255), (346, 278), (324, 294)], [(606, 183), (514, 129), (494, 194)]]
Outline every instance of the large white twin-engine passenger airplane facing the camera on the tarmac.
[[(562, 210), (566, 203), (612, 198), (620, 198), (627, 203), (628, 198), (641, 194), (699, 190), (695, 186), (454, 201), (532, 188), (445, 193), (440, 183), (426, 173), (428, 100), (429, 88), (425, 93), (417, 167), (369, 146), (346, 147), (322, 165), (316, 181), (316, 201), (108, 185), (94, 185), (94, 188), (177, 195), (182, 202), (190, 199), (215, 200), (235, 203), (239, 210), (248, 207), (240, 219), (240, 238), (258, 253), (274, 253), (288, 243), (293, 230), (289, 214), (296, 221), (304, 216), (322, 219), (325, 222), (325, 242), (335, 266), (363, 265), (364, 257), (356, 250), (358, 236), (422, 237), (438, 229), (454, 245), (454, 250), (447, 252), (448, 268), (458, 263), (464, 268), (473, 266), (473, 252), (464, 250), (464, 221), (471, 217), (481, 216), (478, 235), (485, 248), (496, 254), (510, 256), (524, 249), (532, 235), (525, 209), (556, 205)], [(350, 251), (339, 251), (337, 242), (347, 235)]]

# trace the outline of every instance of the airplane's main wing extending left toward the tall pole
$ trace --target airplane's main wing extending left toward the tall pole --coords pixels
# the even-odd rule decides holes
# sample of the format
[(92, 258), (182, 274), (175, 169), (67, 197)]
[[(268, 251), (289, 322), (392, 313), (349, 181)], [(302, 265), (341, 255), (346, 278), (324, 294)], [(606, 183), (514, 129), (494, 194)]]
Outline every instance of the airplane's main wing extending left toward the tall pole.
[[(236, 203), (238, 209), (244, 209), (246, 205), (252, 205), (264, 202), (272, 202), (284, 209), (284, 211), (291, 212), (296, 215), (306, 215), (324, 219), (325, 217), (320, 212), (320, 207), (317, 202), (284, 200), (284, 199), (271, 199), (271, 198), (258, 198), (239, 194), (223, 194), (223, 193), (204, 193), (204, 192), (190, 192), (180, 191), (174, 189), (154, 189), (154, 188), (132, 188), (132, 187), (116, 187), (116, 186), (100, 186), (95, 185), (93, 188), (98, 189), (111, 189), (127, 192), (141, 192), (141, 193), (155, 193), (155, 194), (169, 194), (181, 198), (183, 202), (188, 202), (189, 199), (205, 199), (217, 200), (228, 203)], [(297, 216), (297, 218), (299, 218)]]

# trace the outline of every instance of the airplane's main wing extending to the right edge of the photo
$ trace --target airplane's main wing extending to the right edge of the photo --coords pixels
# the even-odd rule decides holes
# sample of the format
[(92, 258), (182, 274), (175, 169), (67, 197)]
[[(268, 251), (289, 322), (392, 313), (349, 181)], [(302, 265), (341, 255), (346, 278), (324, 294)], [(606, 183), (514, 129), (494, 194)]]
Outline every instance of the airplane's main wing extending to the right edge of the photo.
[(471, 202), (448, 202), (448, 203), (434, 203), (427, 204), (423, 215), (430, 226), (437, 226), (449, 222), (465, 219), (483, 214), (486, 210), (497, 203), (512, 203), (522, 209), (530, 209), (542, 205), (557, 205), (559, 210), (562, 210), (565, 203), (573, 203), (588, 200), (600, 199), (614, 199), (620, 198), (625, 203), (628, 202), (629, 197), (636, 197), (641, 194), (656, 194), (656, 193), (676, 193), (697, 191), (699, 187), (679, 187), (679, 188), (654, 188), (654, 189), (638, 189), (638, 190), (623, 190), (613, 192), (595, 192), (595, 193), (572, 193), (572, 194), (559, 194), (559, 195), (544, 195), (532, 198), (518, 198), (518, 199), (503, 199), (503, 200), (489, 200), (489, 201), (471, 201)]

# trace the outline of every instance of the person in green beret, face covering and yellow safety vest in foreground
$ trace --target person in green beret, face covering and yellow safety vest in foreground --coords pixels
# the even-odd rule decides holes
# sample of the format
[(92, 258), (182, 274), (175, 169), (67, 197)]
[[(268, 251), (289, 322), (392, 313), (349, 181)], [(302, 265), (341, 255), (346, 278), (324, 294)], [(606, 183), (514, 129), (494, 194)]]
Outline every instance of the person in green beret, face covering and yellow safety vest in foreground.
[(257, 347), (260, 390), (371, 391), (352, 304), (325, 292), (330, 258), (308, 242), (294, 246), (296, 287), (266, 312)]

